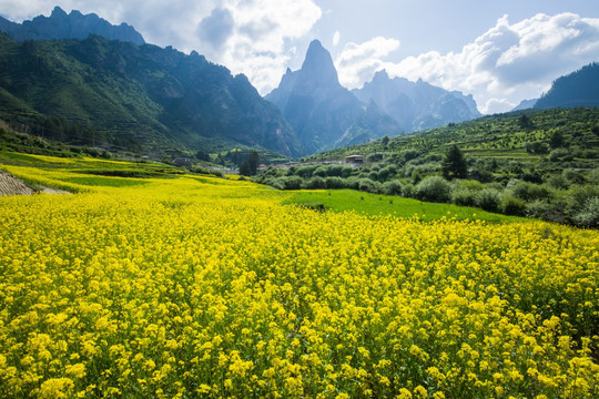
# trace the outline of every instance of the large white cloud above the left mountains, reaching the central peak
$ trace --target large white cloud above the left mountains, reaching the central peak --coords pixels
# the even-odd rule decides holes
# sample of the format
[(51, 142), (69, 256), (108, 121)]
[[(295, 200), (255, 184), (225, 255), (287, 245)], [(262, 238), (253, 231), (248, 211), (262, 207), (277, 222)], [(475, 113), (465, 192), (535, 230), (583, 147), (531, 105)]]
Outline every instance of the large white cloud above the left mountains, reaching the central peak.
[(9, 19), (64, 11), (94, 12), (111, 23), (126, 22), (153, 44), (196, 50), (233, 73), (244, 73), (263, 94), (276, 86), (296, 42), (321, 18), (314, 0), (2, 0)]

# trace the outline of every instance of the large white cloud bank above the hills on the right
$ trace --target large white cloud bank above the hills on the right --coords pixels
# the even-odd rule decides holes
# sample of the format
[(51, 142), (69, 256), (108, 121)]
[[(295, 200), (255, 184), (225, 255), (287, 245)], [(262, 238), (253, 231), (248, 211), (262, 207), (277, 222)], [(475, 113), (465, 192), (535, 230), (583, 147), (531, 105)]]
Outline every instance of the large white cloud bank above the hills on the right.
[[(539, 96), (554, 79), (596, 61), (598, 54), (599, 19), (560, 13), (537, 14), (517, 23), (505, 16), (459, 53), (430, 51), (398, 63), (380, 63), (379, 59), (374, 63), (389, 75), (422, 78), (473, 93), (480, 111), (493, 113)], [(347, 72), (348, 81), (359, 79), (352, 70)]]

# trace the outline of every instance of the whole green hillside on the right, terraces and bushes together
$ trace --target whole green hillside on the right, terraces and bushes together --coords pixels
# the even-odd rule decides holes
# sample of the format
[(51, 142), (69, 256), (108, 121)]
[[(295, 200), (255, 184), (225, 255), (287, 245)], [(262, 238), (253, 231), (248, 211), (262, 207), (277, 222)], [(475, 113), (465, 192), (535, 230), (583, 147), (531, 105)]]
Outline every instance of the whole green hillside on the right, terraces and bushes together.
[[(359, 155), (364, 163), (345, 162)], [(354, 188), (599, 226), (599, 110), (520, 111), (337, 149), (270, 168), (282, 190)]]

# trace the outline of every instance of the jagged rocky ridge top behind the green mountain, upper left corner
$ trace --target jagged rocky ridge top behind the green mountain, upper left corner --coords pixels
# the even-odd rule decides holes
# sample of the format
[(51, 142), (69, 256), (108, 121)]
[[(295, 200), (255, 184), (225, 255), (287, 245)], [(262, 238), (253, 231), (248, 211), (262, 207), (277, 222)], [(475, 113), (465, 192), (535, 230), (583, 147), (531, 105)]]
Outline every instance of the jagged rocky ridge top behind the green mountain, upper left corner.
[(0, 17), (0, 31), (16, 41), (83, 40), (90, 34), (97, 34), (109, 40), (132, 42), (139, 45), (145, 43), (143, 37), (126, 23), (113, 25), (94, 13), (84, 16), (77, 10), (67, 14), (60, 7), (55, 7), (50, 17), (39, 16), (23, 23), (14, 23)]

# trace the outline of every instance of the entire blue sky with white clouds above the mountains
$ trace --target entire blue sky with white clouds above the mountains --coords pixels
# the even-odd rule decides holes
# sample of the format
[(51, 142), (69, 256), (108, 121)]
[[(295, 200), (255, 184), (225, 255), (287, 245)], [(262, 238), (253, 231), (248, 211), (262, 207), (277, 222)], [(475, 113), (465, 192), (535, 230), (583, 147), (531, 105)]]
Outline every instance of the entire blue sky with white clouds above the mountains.
[(22, 21), (54, 6), (196, 50), (262, 94), (301, 66), (313, 39), (349, 89), (386, 69), (473, 94), (484, 113), (538, 98), (559, 75), (599, 61), (595, 0), (0, 0), (0, 13)]

